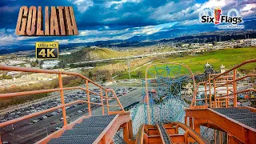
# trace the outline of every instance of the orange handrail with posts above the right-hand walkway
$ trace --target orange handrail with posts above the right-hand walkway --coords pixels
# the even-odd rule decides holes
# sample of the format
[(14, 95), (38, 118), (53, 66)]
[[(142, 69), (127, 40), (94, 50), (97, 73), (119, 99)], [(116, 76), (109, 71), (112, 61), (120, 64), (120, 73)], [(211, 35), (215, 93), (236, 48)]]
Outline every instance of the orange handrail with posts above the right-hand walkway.
[[(212, 107), (212, 102), (211, 102), (211, 97), (212, 97), (212, 93), (211, 91), (211, 87), (214, 88), (214, 106), (215, 108), (222, 106), (222, 102), (226, 102), (226, 107), (229, 106), (229, 99), (230, 98), (234, 98), (234, 106), (237, 106), (237, 94), (241, 94), (241, 93), (245, 93), (248, 91), (255, 91), (255, 89), (251, 89), (251, 90), (240, 90), (238, 91), (237, 89), (237, 82), (241, 81), (242, 79), (245, 78), (250, 78), (250, 77), (256, 77), (256, 74), (247, 74), (242, 76), (241, 78), (237, 78), (237, 69), (240, 66), (244, 66), (248, 63), (252, 63), (252, 62), (256, 62), (256, 59), (251, 59), (245, 62), (242, 62), (240, 64), (238, 64), (237, 66), (234, 66), (233, 68), (231, 68), (230, 70), (226, 70), (226, 72), (222, 73), (222, 74), (210, 74), (209, 75), (209, 79), (206, 82), (198, 82), (198, 86), (197, 88), (194, 90), (194, 96), (192, 98), (192, 102), (190, 104), (190, 106), (196, 106), (196, 102), (197, 101), (202, 101), (202, 98), (200, 99), (196, 99), (197, 94), (199, 92), (205, 92), (205, 100), (206, 103), (205, 105), (208, 106), (207, 101), (209, 101), (209, 107)], [(233, 74), (230, 74), (230, 72), (233, 71)], [(212, 78), (213, 77), (213, 78)], [(217, 79), (221, 79), (216, 81)], [(202, 91), (198, 91), (199, 86), (204, 84), (205, 85), (205, 90)], [(208, 86), (208, 89), (207, 89)], [(217, 93), (217, 91), (219, 91), (219, 87), (225, 87), (222, 89), (222, 91), (226, 90), (226, 93)], [(207, 98), (208, 94), (207, 91), (209, 91), (209, 98)], [(230, 95), (233, 95), (233, 97), (229, 97)], [(219, 101), (219, 99), (226, 99), (226, 101)]]

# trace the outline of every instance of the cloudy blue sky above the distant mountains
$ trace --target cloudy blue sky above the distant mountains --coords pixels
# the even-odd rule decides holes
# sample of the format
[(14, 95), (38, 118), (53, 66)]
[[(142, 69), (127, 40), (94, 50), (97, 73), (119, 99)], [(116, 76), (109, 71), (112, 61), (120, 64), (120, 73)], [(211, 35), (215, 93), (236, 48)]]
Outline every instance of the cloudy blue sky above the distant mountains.
[[(26, 37), (15, 34), (21, 6), (73, 6), (78, 36)], [(243, 19), (256, 18), (256, 0), (1, 0), (0, 48), (57, 41), (60, 44), (127, 39), (171, 26), (200, 25), (200, 11), (237, 9)], [(44, 8), (44, 7), (43, 7)]]

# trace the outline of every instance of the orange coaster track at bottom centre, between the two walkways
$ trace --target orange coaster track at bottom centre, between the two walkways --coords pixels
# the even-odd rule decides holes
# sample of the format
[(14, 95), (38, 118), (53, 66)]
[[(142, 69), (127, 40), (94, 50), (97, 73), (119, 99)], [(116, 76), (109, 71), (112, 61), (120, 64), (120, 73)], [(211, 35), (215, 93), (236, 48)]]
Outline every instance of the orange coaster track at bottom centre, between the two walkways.
[[(179, 134), (178, 128), (185, 131), (184, 134)], [(142, 125), (138, 130), (136, 138), (137, 144), (143, 143), (188, 143), (198, 142), (199, 144), (208, 143), (201, 135), (194, 131), (189, 126), (181, 122), (172, 122), (161, 125)]]

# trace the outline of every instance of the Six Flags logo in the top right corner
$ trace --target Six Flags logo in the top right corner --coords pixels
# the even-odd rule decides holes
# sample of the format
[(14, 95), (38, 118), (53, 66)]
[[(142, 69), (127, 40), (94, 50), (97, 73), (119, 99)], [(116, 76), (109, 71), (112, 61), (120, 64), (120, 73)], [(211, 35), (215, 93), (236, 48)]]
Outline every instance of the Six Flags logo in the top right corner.
[(229, 25), (219, 25), (219, 29), (243, 29), (243, 25), (237, 25), (242, 23), (242, 17), (238, 10), (231, 9), (227, 15), (222, 14), (222, 9), (216, 8), (214, 10), (205, 9), (199, 13), (199, 20), (202, 23), (214, 23), (215, 25), (221, 23), (229, 23)]

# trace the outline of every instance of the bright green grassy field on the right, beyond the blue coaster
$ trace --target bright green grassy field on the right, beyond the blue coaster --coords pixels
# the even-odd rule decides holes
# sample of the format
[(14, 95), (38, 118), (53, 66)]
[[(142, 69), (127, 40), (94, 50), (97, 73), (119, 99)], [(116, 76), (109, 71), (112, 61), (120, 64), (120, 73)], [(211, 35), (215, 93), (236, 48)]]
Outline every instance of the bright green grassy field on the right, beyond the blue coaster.
[[(210, 52), (205, 52), (198, 55), (187, 55), (183, 58), (181, 57), (170, 57), (162, 58), (153, 62), (153, 64), (163, 63), (163, 62), (177, 62), (189, 66), (194, 74), (202, 74), (204, 71), (204, 65), (209, 62), (210, 65), (214, 66), (214, 70), (220, 70), (220, 66), (226, 66), (226, 69), (230, 69), (241, 62), (249, 59), (256, 58), (256, 47), (247, 47), (239, 49), (225, 49), (225, 50), (215, 50)], [(142, 66), (138, 70), (131, 72), (131, 78), (138, 78), (138, 71), (142, 71), (142, 77), (145, 77), (145, 71), (147, 66)], [(253, 71), (256, 69), (256, 63), (248, 64), (242, 66), (240, 70)], [(133, 70), (133, 69), (131, 69)], [(119, 79), (129, 78), (128, 72), (120, 74)]]

